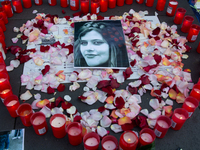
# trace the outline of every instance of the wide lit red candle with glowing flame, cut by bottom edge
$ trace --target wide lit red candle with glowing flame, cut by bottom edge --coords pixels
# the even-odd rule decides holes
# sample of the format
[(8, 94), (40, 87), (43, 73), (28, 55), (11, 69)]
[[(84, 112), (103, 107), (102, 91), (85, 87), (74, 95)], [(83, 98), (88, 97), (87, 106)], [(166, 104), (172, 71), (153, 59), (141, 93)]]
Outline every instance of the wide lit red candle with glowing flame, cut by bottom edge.
[(138, 144), (138, 137), (133, 131), (125, 131), (120, 136), (119, 149), (135, 150)]

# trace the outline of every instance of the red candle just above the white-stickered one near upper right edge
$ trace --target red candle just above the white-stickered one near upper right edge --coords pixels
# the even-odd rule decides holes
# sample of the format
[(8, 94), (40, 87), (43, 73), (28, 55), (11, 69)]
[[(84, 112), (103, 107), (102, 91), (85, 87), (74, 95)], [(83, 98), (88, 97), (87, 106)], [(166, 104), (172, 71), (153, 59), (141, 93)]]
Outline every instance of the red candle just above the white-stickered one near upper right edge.
[(184, 33), (188, 33), (194, 18), (192, 16), (185, 16), (183, 20), (183, 24), (181, 26), (181, 31)]

